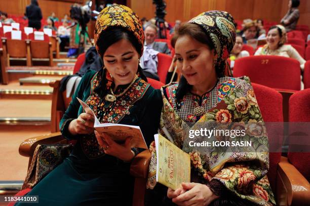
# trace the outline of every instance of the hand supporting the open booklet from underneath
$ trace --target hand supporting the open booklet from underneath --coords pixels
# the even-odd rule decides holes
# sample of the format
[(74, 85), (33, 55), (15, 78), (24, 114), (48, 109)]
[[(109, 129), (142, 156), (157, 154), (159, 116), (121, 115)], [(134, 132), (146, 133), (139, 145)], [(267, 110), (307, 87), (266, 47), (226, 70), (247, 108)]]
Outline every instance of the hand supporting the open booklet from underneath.
[(135, 156), (131, 150), (130, 142), (132, 138), (127, 138), (124, 144), (119, 144), (107, 134), (100, 135), (95, 131), (95, 135), (99, 145), (103, 147), (104, 153), (122, 159), (123, 161), (131, 161)]

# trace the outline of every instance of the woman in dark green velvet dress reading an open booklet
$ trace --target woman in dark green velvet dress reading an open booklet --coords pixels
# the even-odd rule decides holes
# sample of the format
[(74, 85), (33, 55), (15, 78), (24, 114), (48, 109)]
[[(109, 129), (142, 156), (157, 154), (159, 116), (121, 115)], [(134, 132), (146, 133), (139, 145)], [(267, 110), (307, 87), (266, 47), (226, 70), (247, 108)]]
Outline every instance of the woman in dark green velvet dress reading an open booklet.
[(77, 142), (69, 157), (27, 194), (38, 195), (35, 205), (132, 205), (130, 161), (140, 150), (130, 148), (130, 139), (123, 145), (108, 136), (97, 140), (94, 118), (76, 98), (86, 102), (101, 123), (139, 126), (149, 145), (159, 127), (161, 93), (147, 84), (138, 66), (144, 35), (131, 9), (113, 5), (102, 10), (95, 43), (104, 68), (83, 76), (60, 122), (62, 135)]

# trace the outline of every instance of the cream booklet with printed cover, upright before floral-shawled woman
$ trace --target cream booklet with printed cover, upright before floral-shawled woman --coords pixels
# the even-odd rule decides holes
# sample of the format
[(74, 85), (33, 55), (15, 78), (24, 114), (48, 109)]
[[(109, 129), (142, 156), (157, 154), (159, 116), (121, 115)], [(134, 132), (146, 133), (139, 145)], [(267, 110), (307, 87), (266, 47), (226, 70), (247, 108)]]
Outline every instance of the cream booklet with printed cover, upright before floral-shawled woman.
[(162, 135), (154, 135), (157, 154), (156, 181), (173, 190), (190, 182), (190, 156)]

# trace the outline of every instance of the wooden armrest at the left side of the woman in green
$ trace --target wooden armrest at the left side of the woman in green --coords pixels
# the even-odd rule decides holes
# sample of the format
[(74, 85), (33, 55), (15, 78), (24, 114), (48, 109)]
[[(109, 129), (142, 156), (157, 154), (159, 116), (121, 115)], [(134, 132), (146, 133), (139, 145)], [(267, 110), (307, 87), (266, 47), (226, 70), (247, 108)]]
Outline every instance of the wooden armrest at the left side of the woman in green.
[(61, 133), (56, 132), (26, 139), (20, 144), (18, 151), (22, 156), (31, 157), (36, 145), (38, 144), (56, 144), (66, 142), (67, 140), (61, 136)]

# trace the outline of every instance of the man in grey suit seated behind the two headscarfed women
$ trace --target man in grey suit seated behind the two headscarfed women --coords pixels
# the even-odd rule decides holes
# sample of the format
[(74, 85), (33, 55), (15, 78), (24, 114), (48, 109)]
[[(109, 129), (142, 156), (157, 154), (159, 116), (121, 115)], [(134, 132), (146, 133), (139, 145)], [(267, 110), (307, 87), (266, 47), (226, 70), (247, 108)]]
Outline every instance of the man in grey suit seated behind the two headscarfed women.
[(148, 24), (144, 29), (145, 43), (144, 46), (152, 48), (160, 53), (170, 55), (170, 50), (167, 43), (165, 42), (155, 42), (157, 38), (157, 27), (154, 24)]

